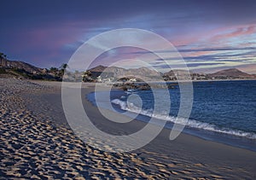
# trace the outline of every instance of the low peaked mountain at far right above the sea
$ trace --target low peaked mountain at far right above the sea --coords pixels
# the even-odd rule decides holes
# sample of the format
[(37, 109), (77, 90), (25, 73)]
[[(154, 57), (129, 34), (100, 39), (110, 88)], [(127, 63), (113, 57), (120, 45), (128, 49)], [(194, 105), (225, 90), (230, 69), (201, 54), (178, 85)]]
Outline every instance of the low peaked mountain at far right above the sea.
[(207, 74), (207, 76), (209, 76), (211, 78), (224, 78), (224, 77), (227, 77), (227, 78), (256, 78), (255, 75), (244, 73), (236, 68), (230, 68), (230, 69), (218, 71), (216, 73), (210, 73), (210, 74)]

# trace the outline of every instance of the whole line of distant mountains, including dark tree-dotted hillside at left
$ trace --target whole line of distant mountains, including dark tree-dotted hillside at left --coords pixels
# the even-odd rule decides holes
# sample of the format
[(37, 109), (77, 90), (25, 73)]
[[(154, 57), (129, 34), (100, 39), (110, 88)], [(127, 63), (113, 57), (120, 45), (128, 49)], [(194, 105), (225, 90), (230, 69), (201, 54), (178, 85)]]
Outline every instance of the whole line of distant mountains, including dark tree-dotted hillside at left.
[[(102, 73), (104, 72), (104, 73)], [(165, 80), (179, 79), (229, 79), (229, 78), (256, 78), (256, 74), (244, 73), (239, 69), (230, 68), (216, 73), (192, 73), (188, 76), (184, 70), (171, 70), (168, 73), (159, 73), (147, 67), (125, 69), (122, 67), (97, 66), (90, 69), (91, 78), (138, 78), (145, 81), (157, 81), (163, 77)], [(61, 70), (47, 70), (32, 66), (23, 61), (9, 61), (0, 57), (1, 77), (22, 77), (35, 79), (61, 80)], [(190, 77), (191, 76), (191, 77)]]

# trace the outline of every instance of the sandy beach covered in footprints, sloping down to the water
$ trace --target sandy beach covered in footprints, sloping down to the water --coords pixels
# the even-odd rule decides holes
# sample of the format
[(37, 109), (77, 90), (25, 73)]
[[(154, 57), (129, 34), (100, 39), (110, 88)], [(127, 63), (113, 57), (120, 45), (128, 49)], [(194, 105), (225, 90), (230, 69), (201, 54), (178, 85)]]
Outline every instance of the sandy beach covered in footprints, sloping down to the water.
[[(119, 134), (145, 125), (133, 120), (124, 128), (102, 117), (85, 98), (93, 90), (83, 84), (84, 108), (96, 127)], [(67, 124), (60, 82), (0, 78), (0, 100), (0, 179), (256, 178), (255, 152), (184, 133), (170, 141), (168, 129), (131, 153), (90, 147)]]

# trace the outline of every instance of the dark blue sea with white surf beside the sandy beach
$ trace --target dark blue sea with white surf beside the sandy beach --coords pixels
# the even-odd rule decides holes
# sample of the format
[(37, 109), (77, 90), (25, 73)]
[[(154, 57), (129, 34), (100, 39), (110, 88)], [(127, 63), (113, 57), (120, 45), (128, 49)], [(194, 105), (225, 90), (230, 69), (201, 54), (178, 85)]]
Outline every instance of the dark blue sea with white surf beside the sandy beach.
[[(131, 117), (136, 113), (136, 119), (144, 122), (157, 117), (166, 121), (165, 128), (172, 129), (181, 94), (178, 84), (170, 84), (172, 89), (168, 91), (172, 106), (167, 116), (154, 113), (154, 94), (161, 94), (162, 89), (154, 93), (152, 90), (97, 91), (87, 95), (87, 99), (98, 107)], [(193, 107), (184, 133), (256, 152), (256, 80), (193, 82), (193, 95)], [(132, 100), (129, 96), (136, 98)], [(113, 108), (109, 107), (109, 101)], [(162, 106), (165, 102), (162, 101)]]

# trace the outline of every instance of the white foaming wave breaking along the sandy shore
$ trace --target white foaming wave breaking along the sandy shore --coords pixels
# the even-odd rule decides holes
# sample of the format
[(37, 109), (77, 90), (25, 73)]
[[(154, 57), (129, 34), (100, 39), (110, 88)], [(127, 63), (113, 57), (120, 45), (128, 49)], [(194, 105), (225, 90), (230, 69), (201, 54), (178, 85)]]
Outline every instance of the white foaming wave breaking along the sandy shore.
[[(123, 102), (119, 99), (114, 99), (112, 103), (119, 105), (121, 109), (125, 111), (130, 111), (132, 113), (140, 113), (148, 117), (171, 121), (172, 123), (175, 123), (177, 121), (177, 118), (174, 116), (162, 115), (160, 113), (153, 113), (153, 109), (141, 109), (139, 107), (136, 107), (133, 103), (130, 103), (130, 102), (129, 104), (127, 104), (127, 102)], [(183, 122), (183, 119), (179, 119), (178, 121)], [(201, 122), (194, 119), (189, 119), (185, 125), (192, 128), (206, 130), (206, 131), (214, 131), (214, 132), (224, 133), (232, 136), (241, 136), (241, 137), (247, 137), (249, 139), (256, 139), (256, 134), (253, 132), (234, 130), (230, 128), (222, 128), (222, 127), (218, 127), (218, 125), (212, 125), (212, 124)]]

